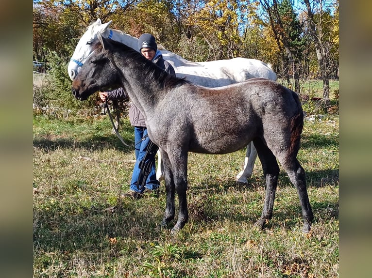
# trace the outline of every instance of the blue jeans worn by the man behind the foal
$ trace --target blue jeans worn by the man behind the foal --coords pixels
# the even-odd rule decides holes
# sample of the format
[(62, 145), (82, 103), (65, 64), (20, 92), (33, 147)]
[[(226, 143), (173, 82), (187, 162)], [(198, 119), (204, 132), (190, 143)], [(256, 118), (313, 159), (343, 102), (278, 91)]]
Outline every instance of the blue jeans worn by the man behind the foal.
[[(147, 135), (147, 128), (146, 127), (138, 127), (135, 126), (135, 143), (139, 142), (144, 136)], [(139, 162), (142, 160), (142, 158), (145, 156), (147, 147), (150, 143), (150, 138), (147, 137), (143, 141), (141, 141), (139, 144), (135, 145), (135, 168), (133, 169), (132, 173), (132, 180), (130, 189), (139, 193), (142, 193), (145, 191), (145, 187), (150, 190), (155, 190), (159, 187), (159, 182), (156, 180), (156, 173), (155, 173), (155, 154), (151, 157), (150, 155), (147, 156), (146, 162), (152, 162), (152, 167), (150, 170), (150, 174), (147, 177), (146, 185), (142, 188), (141, 191), (137, 189), (137, 180), (140, 173), (139, 169)]]

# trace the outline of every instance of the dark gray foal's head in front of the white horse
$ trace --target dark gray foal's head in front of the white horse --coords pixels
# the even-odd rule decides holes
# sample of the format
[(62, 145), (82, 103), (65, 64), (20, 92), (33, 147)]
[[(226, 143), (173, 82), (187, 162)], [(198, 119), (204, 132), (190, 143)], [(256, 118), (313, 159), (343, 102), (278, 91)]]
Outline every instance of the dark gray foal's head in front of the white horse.
[(72, 82), (71, 92), (78, 100), (86, 100), (93, 93), (120, 85), (115, 66), (110, 62), (112, 45), (99, 33), (98, 41), (91, 46), (89, 55)]

